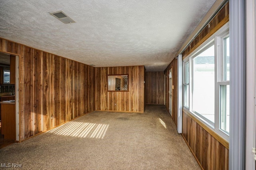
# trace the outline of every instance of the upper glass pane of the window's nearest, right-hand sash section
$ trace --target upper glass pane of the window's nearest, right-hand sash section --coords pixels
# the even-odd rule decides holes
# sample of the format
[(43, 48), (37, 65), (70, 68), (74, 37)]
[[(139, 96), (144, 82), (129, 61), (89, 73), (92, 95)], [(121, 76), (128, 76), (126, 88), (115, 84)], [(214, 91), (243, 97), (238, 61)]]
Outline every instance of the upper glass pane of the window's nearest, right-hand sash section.
[(224, 38), (224, 81), (229, 81), (229, 37)]

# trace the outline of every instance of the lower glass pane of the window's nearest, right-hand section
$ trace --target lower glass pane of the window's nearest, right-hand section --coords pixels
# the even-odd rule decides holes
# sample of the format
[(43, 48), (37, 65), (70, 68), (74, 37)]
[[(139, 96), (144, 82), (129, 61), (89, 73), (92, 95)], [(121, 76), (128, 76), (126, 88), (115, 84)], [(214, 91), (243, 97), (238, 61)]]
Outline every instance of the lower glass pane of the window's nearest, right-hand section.
[(229, 133), (230, 100), (229, 85), (220, 86), (220, 129)]

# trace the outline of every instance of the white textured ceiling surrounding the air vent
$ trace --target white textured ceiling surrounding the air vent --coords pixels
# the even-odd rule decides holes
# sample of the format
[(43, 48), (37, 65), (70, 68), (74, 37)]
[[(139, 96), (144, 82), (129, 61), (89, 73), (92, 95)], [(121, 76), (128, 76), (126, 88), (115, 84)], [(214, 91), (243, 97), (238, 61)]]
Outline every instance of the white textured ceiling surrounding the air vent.
[[(0, 0), (0, 37), (85, 64), (164, 71), (215, 0)], [(49, 14), (62, 10), (76, 23)]]

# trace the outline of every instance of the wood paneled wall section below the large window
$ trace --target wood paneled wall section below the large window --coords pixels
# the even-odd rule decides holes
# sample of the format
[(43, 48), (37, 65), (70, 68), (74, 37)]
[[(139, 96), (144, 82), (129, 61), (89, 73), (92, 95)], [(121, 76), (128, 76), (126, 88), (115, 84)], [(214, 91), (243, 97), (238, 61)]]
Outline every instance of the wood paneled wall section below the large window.
[(228, 148), (182, 113), (182, 136), (204, 170), (228, 170)]

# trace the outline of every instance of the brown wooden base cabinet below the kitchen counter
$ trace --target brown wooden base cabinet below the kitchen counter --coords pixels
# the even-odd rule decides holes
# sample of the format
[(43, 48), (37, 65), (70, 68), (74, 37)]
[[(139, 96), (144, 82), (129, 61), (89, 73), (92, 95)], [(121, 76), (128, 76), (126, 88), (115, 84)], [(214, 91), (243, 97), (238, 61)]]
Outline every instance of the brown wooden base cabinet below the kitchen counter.
[(15, 104), (1, 104), (2, 135), (4, 139), (16, 140)]

